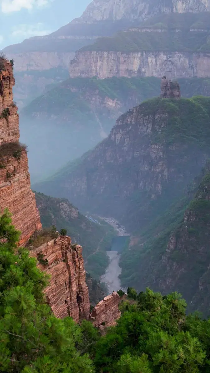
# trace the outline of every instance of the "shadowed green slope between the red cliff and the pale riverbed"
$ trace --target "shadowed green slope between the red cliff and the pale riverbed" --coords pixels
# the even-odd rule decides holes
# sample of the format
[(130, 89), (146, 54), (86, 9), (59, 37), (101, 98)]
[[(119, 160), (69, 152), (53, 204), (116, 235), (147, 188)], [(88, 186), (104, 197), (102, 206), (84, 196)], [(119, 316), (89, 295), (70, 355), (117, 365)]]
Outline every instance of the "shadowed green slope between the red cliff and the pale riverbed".
[(112, 226), (104, 220), (94, 223), (64, 198), (52, 198), (38, 192), (35, 192), (35, 198), (43, 227), (55, 225), (58, 231), (66, 229), (72, 242), (83, 247), (86, 270), (98, 280), (108, 266), (106, 250), (115, 236)]

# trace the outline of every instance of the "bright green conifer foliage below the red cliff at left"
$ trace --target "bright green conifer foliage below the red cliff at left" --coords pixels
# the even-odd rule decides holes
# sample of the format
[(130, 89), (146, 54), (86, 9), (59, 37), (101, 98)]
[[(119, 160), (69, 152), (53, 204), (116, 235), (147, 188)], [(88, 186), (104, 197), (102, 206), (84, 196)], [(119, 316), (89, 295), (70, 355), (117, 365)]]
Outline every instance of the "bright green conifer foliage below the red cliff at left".
[(47, 276), (25, 248), (7, 210), (0, 216), (0, 371), (90, 373), (92, 361), (75, 347), (80, 327), (56, 319), (45, 304)]

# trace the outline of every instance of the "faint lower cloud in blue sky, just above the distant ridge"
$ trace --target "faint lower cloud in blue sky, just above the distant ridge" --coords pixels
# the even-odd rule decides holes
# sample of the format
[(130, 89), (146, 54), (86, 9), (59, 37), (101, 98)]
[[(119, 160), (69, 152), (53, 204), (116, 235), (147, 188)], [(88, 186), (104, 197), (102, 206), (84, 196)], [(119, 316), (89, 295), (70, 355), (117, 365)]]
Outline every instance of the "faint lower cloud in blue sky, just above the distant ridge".
[(35, 23), (34, 25), (22, 24), (13, 27), (12, 37), (30, 38), (31, 36), (42, 36), (50, 34), (51, 30), (44, 28), (44, 23)]

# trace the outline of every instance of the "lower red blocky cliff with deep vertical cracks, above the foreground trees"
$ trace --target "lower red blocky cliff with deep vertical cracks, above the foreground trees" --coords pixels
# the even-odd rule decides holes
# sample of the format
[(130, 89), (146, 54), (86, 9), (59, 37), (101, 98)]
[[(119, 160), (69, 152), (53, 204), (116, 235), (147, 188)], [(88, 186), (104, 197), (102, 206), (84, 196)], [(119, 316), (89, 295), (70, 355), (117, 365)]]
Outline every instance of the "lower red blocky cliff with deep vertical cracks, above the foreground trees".
[(47, 266), (39, 263), (38, 267), (51, 276), (44, 294), (55, 316), (71, 316), (76, 322), (80, 317), (89, 317), (90, 301), (81, 246), (71, 245), (68, 236), (59, 236), (32, 250), (30, 255), (37, 257), (38, 253), (48, 260)]

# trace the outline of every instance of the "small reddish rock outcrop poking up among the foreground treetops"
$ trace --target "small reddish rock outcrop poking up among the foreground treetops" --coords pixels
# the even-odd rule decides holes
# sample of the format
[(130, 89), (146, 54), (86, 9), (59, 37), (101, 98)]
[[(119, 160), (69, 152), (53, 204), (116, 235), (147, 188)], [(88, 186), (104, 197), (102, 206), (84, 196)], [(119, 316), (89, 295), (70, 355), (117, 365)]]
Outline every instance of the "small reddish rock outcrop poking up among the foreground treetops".
[(121, 312), (118, 309), (119, 300), (120, 296), (114, 291), (99, 302), (90, 315), (93, 325), (96, 327), (101, 326), (102, 323), (105, 323), (106, 327), (115, 325), (116, 320), (121, 316)]

